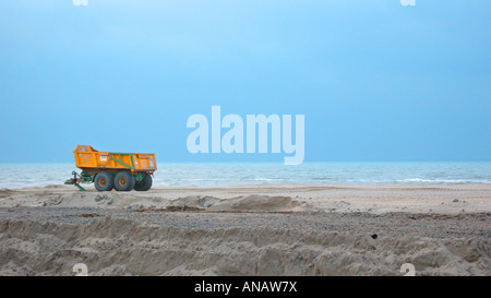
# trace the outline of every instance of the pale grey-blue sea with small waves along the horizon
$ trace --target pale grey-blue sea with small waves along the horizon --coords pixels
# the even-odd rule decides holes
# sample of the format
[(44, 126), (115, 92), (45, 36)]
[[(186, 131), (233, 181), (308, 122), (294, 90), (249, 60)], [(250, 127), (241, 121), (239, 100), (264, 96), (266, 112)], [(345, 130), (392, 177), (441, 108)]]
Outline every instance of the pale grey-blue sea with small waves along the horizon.
[[(62, 184), (73, 164), (0, 164), (0, 189)], [(491, 183), (491, 163), (158, 164), (156, 187)]]

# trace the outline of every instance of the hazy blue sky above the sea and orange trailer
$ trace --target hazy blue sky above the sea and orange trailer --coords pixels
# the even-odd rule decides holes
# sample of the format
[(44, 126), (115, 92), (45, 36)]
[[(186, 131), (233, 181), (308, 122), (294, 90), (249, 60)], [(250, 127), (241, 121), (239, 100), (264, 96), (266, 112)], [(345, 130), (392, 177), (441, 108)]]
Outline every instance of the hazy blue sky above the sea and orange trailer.
[(0, 163), (159, 162), (189, 116), (306, 115), (306, 162), (491, 160), (491, 2), (0, 2)]

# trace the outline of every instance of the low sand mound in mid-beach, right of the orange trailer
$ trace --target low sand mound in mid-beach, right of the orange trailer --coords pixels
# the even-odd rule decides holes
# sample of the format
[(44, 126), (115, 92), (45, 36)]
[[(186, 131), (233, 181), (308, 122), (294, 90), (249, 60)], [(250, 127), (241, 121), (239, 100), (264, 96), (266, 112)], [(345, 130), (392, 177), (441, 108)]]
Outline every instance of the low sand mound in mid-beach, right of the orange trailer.
[(290, 196), (252, 194), (225, 200), (208, 195), (190, 195), (170, 201), (166, 208), (170, 211), (294, 212), (310, 210), (310, 206), (307, 202), (297, 201)]

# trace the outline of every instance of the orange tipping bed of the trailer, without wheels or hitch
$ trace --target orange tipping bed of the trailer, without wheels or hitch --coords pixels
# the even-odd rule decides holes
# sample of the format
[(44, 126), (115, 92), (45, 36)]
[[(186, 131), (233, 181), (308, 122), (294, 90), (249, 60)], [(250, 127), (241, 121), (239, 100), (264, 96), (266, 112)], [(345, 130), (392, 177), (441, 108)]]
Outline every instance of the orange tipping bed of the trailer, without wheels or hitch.
[(73, 151), (75, 165), (83, 170), (131, 170), (153, 172), (157, 170), (155, 154), (99, 152), (87, 145)]

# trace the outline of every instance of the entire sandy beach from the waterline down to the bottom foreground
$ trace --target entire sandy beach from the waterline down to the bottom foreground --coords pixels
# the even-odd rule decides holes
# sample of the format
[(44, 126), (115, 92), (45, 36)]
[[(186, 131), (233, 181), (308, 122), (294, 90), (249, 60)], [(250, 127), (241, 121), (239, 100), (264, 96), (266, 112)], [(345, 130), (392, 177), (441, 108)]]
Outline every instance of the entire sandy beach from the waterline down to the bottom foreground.
[(0, 275), (491, 275), (491, 184), (0, 189)]

